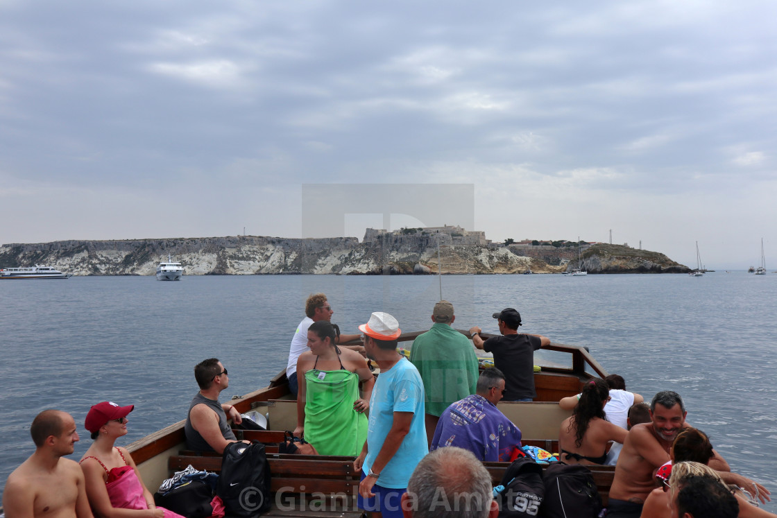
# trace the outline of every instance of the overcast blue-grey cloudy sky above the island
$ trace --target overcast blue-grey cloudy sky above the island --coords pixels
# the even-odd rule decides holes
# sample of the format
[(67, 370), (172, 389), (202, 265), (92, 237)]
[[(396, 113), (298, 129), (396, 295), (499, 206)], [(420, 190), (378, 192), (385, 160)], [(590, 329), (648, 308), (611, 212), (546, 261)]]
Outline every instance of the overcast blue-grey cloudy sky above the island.
[[(494, 241), (611, 230), (690, 266), (699, 241), (710, 268), (758, 264), (763, 237), (774, 268), (775, 19), (771, 0), (0, 0), (0, 243), (319, 237), (311, 217), (361, 238), (461, 210)], [(314, 184), (340, 184), (331, 213), (305, 212)], [(413, 184), (439, 189), (392, 214)]]

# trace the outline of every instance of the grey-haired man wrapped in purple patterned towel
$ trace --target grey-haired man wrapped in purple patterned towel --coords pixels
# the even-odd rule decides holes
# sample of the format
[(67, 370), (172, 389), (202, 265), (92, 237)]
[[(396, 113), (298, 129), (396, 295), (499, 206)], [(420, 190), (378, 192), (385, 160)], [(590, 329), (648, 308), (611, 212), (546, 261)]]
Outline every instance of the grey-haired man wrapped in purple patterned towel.
[(521, 430), (497, 408), (503, 392), (504, 374), (496, 367), (483, 370), (476, 394), (442, 413), (429, 450), (455, 446), (481, 461), (509, 461), (513, 449), (521, 447)]

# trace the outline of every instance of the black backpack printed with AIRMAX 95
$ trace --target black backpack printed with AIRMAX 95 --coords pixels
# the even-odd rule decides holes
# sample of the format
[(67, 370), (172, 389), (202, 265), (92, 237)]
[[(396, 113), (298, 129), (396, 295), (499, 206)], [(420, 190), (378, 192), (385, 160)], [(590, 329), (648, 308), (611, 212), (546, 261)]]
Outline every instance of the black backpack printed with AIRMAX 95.
[(529, 457), (518, 457), (510, 464), (502, 484), (493, 490), (500, 518), (538, 516), (544, 496), (542, 466)]

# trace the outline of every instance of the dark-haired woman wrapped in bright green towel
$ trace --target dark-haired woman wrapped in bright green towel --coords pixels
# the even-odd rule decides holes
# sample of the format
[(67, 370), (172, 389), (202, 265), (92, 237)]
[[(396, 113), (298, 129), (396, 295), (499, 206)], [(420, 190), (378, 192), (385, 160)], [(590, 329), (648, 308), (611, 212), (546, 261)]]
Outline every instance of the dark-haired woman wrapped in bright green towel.
[[(308, 348), (297, 360), (297, 428), (294, 436), (320, 455), (361, 452), (367, 440), (367, 415), (375, 377), (364, 356), (336, 346), (336, 330), (326, 321), (308, 329)], [(363, 383), (359, 394), (359, 383)]]

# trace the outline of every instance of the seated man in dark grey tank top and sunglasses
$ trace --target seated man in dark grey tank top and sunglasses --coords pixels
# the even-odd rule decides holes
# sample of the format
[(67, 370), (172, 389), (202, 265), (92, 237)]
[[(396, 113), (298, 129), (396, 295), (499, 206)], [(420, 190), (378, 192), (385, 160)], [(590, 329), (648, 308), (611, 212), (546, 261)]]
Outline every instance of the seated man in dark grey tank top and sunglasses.
[(192, 399), (183, 426), (186, 447), (222, 454), (228, 443), (237, 442), (227, 419), (232, 419), (235, 424), (242, 421), (235, 407), (218, 402), (218, 395), (229, 386), (227, 370), (218, 359), (209, 358), (197, 363), (194, 377), (200, 385), (200, 391)]

